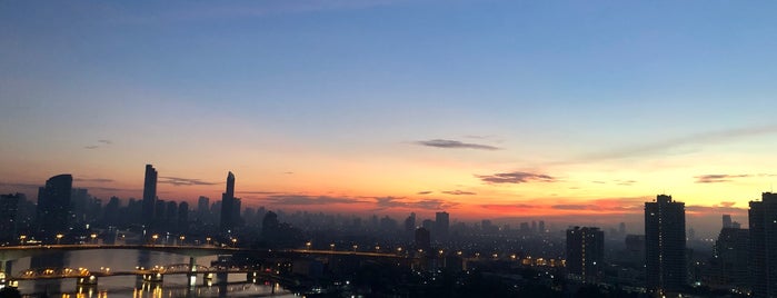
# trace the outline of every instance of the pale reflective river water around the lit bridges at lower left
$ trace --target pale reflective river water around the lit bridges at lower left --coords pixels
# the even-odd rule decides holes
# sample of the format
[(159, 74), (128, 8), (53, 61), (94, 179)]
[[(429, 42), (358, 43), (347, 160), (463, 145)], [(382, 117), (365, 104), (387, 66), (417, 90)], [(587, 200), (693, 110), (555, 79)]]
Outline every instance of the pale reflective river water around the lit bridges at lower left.
[[(197, 265), (210, 267), (216, 256), (199, 257)], [(159, 251), (145, 250), (80, 250), (47, 255), (43, 257), (22, 258), (12, 262), (11, 272), (20, 276), (28, 269), (43, 268), (87, 268), (90, 271), (109, 270), (111, 272), (131, 271), (136, 267), (170, 266), (189, 264), (189, 257)], [(230, 274), (206, 280), (197, 276), (193, 287), (189, 286), (186, 275), (165, 276), (162, 282), (145, 282), (136, 276), (100, 277), (97, 286), (77, 286), (74, 278), (48, 280), (21, 280), (19, 291), (26, 297), (62, 298), (117, 298), (117, 297), (293, 297), (277, 284), (250, 282), (246, 274)]]

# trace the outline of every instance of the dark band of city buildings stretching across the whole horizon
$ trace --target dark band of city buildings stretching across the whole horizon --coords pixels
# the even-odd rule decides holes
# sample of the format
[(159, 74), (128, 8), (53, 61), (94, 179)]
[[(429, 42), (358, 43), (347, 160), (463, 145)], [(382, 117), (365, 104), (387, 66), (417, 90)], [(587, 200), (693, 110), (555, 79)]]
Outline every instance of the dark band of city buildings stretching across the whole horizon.
[(415, 258), (411, 268), (427, 272), (502, 265), (542, 268), (547, 286), (556, 287), (561, 278), (567, 292), (575, 291), (570, 287), (611, 285), (619, 292), (655, 297), (698, 294), (700, 288), (777, 297), (777, 195), (770, 192), (750, 201), (747, 228), (723, 215), (717, 240), (703, 242), (686, 226), (685, 203), (666, 195), (645, 202), (644, 234), (628, 234), (624, 222), (608, 232), (585, 226), (561, 230), (545, 220), (518, 222), (516, 228), (490, 219), (451, 221), (446, 211), (424, 220), (411, 212), (404, 222), (377, 215), (270, 211), (241, 206), (232, 172), (221, 200), (199, 197), (190, 209), (188, 202), (158, 197), (152, 165), (146, 166), (142, 198), (126, 203), (117, 197), (103, 203), (72, 182), (71, 175), (51, 177), (38, 189), (37, 201), (23, 193), (0, 196), (0, 244), (136, 241), (391, 251)]

